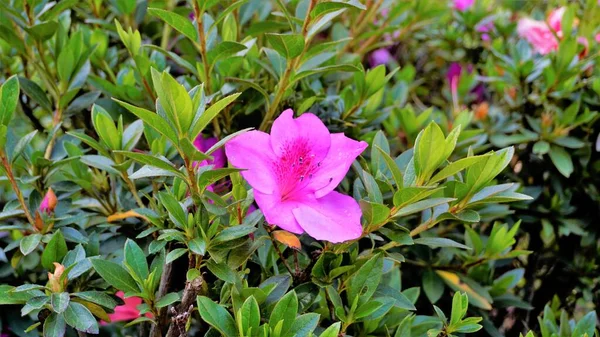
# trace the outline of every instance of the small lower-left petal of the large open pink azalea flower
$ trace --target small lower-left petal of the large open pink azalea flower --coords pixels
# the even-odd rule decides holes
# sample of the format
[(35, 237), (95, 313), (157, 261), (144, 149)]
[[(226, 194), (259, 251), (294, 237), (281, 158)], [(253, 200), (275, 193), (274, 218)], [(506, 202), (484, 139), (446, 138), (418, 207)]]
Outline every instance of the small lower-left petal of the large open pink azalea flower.
[(294, 208), (300, 206), (301, 203), (299, 201), (282, 201), (278, 192), (264, 194), (256, 190), (254, 191), (254, 200), (270, 225), (279, 226), (295, 234), (304, 233), (304, 230), (300, 227), (292, 213)]

